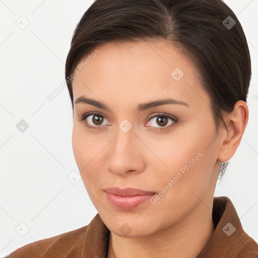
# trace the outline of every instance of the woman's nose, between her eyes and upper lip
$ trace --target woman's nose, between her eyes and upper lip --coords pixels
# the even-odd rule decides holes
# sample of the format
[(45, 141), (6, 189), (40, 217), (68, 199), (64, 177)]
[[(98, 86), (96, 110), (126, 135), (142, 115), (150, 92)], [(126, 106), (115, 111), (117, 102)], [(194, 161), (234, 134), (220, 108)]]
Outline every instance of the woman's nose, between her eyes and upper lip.
[(141, 173), (145, 168), (144, 144), (135, 135), (133, 127), (127, 133), (119, 127), (117, 135), (109, 144), (107, 169), (116, 175)]

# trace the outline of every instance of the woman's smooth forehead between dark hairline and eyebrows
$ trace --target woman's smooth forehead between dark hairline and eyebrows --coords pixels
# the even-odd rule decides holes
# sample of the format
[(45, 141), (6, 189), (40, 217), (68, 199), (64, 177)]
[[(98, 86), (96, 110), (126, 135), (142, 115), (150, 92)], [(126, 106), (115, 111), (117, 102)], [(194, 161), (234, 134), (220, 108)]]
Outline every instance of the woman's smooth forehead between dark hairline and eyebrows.
[[(98, 54), (93, 54), (96, 50)], [(74, 99), (82, 95), (94, 97), (94, 92), (100, 98), (106, 98), (106, 94), (115, 96), (117, 92), (119, 98), (121, 94), (149, 99), (158, 94), (172, 94), (182, 101), (196, 98), (191, 87), (199, 85), (199, 75), (191, 59), (166, 40), (104, 43), (93, 48), (79, 63), (84, 65), (72, 83)]]

